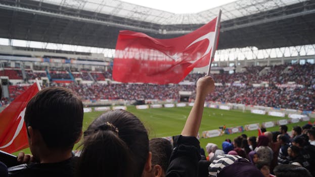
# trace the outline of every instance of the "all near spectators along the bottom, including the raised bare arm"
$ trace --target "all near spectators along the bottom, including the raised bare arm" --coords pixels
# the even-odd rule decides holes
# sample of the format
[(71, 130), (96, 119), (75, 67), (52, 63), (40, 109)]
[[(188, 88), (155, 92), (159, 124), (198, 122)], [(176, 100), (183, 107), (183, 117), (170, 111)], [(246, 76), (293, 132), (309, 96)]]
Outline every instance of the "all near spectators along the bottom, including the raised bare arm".
[[(43, 89), (25, 109), (32, 155), (20, 152), (18, 166), (2, 158), (0, 176), (315, 176), (315, 127), (310, 124), (293, 127), (292, 137), (281, 125), (280, 131), (264, 131), (257, 139), (227, 139), (221, 149), (209, 143), (206, 156), (197, 134), (214, 80), (203, 77), (196, 85), (195, 104), (173, 145), (165, 139), (149, 141), (141, 120), (125, 110), (100, 115), (82, 134), (81, 100), (63, 87)], [(82, 150), (74, 154), (82, 135)]]

